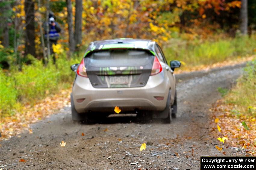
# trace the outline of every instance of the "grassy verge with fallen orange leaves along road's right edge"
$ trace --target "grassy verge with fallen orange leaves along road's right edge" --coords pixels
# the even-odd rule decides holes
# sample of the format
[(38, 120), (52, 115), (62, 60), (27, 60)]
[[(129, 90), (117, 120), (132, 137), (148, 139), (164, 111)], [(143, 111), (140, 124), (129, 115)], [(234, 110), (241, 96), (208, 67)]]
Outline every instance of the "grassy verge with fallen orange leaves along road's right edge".
[[(249, 62), (230, 91), (219, 88), (223, 99), (212, 108), (214, 136), (227, 138), (232, 147), (256, 155), (256, 60)], [(217, 124), (217, 125), (216, 125)], [(217, 131), (218, 129), (218, 131)], [(218, 150), (222, 150), (221, 147)], [(225, 150), (222, 150), (222, 152)]]

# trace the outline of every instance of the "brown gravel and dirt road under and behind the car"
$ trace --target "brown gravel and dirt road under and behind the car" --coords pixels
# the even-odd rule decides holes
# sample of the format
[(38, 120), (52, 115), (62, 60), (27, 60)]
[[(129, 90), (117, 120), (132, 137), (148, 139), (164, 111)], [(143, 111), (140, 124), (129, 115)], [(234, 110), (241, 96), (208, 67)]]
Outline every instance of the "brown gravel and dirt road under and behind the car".
[[(221, 98), (217, 88), (230, 88), (242, 66), (177, 75), (178, 116), (171, 124), (120, 114), (86, 125), (73, 122), (70, 107), (63, 108), (31, 125), (33, 134), (1, 141), (0, 165), (2, 169), (198, 170), (200, 156), (224, 156), (223, 151), (226, 156), (245, 156), (232, 147), (222, 152), (215, 148), (220, 142), (210, 135), (208, 111)], [(147, 147), (140, 152), (142, 143)]]

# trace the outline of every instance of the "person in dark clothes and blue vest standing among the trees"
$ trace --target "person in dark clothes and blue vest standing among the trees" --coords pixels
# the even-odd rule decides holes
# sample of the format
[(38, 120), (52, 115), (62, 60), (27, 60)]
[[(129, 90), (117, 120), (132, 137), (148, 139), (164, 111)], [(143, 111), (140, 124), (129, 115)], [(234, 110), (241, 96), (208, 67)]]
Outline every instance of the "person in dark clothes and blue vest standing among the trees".
[[(49, 25), (49, 32), (47, 34), (47, 25)], [(45, 32), (45, 40), (47, 39), (47, 36), (49, 36), (49, 41), (50, 41), (50, 53), (54, 54), (52, 45), (57, 44), (57, 41), (59, 39), (59, 32), (61, 32), (61, 27), (57, 22), (55, 22), (54, 16), (52, 14), (49, 15), (49, 20), (48, 23), (46, 22), (44, 24), (44, 32)], [(53, 63), (55, 64), (56, 58), (55, 55), (53, 55)]]

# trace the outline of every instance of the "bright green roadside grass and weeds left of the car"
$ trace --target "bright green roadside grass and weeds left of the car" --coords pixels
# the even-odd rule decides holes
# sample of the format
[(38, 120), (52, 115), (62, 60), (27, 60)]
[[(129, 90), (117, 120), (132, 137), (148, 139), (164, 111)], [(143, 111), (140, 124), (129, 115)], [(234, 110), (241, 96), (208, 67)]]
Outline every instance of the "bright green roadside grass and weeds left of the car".
[(22, 71), (15, 67), (6, 72), (0, 69), (1, 117), (70, 86), (75, 76), (70, 65), (80, 63), (80, 59), (67, 60), (63, 55), (58, 58), (57, 66), (52, 63), (44, 66), (42, 61), (34, 59), (32, 64), (23, 65)]

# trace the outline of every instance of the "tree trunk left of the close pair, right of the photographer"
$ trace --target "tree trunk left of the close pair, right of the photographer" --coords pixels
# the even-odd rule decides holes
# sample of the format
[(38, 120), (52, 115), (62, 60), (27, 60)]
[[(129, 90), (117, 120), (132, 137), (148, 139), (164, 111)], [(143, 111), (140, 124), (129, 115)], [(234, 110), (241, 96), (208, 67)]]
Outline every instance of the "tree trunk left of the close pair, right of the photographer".
[(70, 0), (66, 0), (67, 3), (67, 24), (69, 34), (69, 50), (71, 53), (75, 51), (75, 39), (73, 32), (73, 14), (72, 14), (72, 3)]

